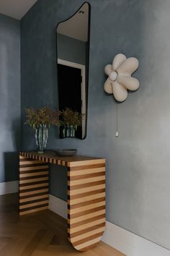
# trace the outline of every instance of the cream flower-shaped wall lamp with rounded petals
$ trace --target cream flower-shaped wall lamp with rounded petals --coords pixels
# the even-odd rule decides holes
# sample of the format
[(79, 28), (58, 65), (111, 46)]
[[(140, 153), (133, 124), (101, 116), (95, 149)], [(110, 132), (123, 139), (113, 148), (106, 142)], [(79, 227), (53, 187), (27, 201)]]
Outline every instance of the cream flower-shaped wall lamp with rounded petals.
[(125, 101), (128, 97), (128, 90), (137, 90), (139, 81), (131, 77), (138, 69), (139, 61), (136, 58), (126, 58), (124, 54), (117, 54), (112, 65), (108, 64), (104, 68), (105, 74), (109, 77), (104, 83), (104, 90), (112, 93), (117, 101)]

